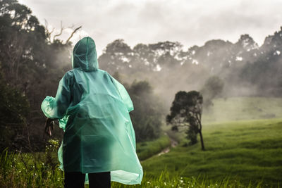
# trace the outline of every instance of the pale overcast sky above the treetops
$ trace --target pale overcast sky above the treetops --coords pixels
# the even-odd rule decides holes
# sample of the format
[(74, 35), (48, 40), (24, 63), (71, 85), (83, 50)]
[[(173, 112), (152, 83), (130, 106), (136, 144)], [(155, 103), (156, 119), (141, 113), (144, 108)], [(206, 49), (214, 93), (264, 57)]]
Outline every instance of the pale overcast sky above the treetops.
[[(94, 39), (97, 52), (115, 39), (138, 43), (180, 42), (184, 49), (210, 39), (236, 42), (249, 34), (261, 45), (282, 26), (281, 0), (19, 0), (49, 28), (82, 25), (73, 42)], [(73, 27), (73, 28), (75, 28)], [(55, 30), (56, 31), (56, 30)], [(56, 31), (58, 32), (58, 31)], [(62, 39), (71, 35), (65, 30)]]

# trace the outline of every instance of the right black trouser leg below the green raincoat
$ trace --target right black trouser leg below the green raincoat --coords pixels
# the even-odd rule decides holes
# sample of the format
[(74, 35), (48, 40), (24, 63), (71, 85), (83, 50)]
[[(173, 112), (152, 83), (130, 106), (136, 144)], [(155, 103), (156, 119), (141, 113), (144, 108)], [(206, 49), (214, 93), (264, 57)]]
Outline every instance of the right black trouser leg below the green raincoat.
[(111, 187), (111, 173), (90, 173), (89, 188), (110, 188)]

